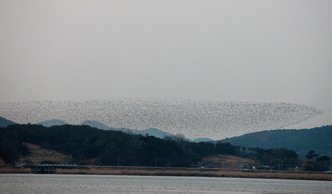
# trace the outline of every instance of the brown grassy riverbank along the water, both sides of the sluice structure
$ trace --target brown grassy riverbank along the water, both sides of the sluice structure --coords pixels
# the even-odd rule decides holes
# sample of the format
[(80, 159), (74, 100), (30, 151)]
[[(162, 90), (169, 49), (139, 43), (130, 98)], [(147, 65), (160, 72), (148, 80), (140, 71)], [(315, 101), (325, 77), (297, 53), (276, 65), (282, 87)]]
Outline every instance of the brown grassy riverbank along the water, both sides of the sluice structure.
[[(33, 166), (0, 168), (0, 173), (34, 173)], [(56, 174), (87, 175), (139, 175), (139, 176), (201, 176), (266, 178), (294, 180), (332, 181), (332, 173), (302, 171), (235, 170), (216, 168), (167, 168), (167, 167), (126, 167), (126, 166), (79, 166), (79, 169), (57, 169)]]

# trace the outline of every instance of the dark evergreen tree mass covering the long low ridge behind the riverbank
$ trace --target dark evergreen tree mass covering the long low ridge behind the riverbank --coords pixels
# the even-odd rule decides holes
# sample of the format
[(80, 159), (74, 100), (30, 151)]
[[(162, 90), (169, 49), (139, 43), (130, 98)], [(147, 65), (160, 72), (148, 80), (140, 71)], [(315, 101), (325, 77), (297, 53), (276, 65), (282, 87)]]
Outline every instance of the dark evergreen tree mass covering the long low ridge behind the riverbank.
[[(184, 137), (141, 136), (126, 134), (120, 131), (105, 131), (90, 126), (62, 125), (43, 127), (42, 125), (10, 125), (0, 128), (2, 141), (16, 142), (15, 145), (3, 144), (0, 147), (1, 157), (6, 162), (15, 160), (8, 151), (20, 146), (23, 142), (40, 145), (72, 155), (76, 164), (82, 165), (118, 165), (122, 166), (157, 166), (190, 167), (198, 158), (211, 154), (228, 154), (250, 157), (258, 164), (270, 165), (298, 164), (298, 155), (293, 150), (245, 148), (230, 143), (189, 142)], [(2, 144), (1, 144), (2, 145)], [(22, 149), (22, 150), (21, 150)], [(17, 155), (17, 151), (14, 155)], [(3, 154), (5, 153), (5, 154)]]

